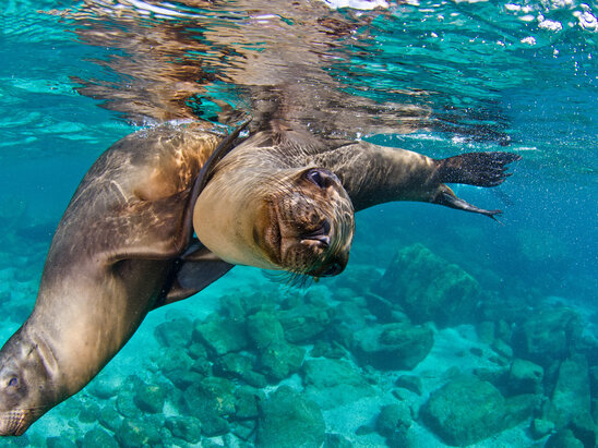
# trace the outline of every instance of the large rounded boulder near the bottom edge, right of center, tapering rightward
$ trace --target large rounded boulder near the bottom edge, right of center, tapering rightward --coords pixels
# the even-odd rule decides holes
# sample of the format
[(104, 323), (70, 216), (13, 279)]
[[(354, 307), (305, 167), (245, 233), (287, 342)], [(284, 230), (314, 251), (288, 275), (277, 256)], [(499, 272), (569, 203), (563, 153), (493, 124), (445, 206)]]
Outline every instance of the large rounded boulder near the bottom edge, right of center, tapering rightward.
[(505, 400), (490, 383), (459, 376), (430, 395), (420, 416), (446, 444), (466, 446), (518, 424), (537, 402), (531, 395)]

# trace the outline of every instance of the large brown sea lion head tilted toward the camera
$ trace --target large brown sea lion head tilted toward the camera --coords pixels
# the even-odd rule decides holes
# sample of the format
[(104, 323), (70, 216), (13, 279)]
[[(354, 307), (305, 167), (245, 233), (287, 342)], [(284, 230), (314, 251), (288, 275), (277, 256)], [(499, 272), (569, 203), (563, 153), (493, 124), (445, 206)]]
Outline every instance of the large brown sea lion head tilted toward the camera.
[(220, 170), (198, 198), (200, 241), (232, 264), (312, 277), (340, 274), (355, 231), (351, 201), (338, 178), (316, 168)]

